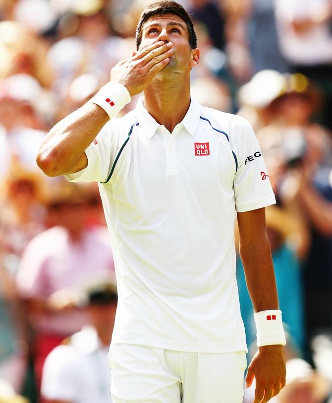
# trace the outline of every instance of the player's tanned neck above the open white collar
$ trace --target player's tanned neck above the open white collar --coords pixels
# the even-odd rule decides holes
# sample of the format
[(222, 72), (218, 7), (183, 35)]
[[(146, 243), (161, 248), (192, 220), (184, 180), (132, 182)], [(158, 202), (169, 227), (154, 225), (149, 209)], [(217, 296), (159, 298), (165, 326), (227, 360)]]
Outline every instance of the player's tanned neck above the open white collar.
[(144, 91), (145, 109), (170, 133), (185, 117), (190, 105), (189, 76), (176, 78), (155, 79)]

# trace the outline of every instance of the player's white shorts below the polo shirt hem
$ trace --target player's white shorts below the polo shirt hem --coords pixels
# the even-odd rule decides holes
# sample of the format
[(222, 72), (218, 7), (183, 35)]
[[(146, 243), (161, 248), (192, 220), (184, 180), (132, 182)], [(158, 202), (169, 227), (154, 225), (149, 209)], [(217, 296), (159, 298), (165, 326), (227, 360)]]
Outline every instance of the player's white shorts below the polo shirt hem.
[(192, 353), (133, 344), (109, 352), (113, 403), (242, 403), (245, 351)]

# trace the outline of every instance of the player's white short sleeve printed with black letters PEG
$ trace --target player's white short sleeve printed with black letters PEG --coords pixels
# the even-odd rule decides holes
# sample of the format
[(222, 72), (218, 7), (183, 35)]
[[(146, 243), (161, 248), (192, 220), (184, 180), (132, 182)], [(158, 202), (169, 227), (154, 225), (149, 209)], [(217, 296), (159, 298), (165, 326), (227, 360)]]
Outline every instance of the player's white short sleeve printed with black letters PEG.
[(233, 181), (236, 211), (250, 211), (275, 204), (262, 151), (250, 124), (234, 116), (229, 133), (230, 145), (238, 162)]

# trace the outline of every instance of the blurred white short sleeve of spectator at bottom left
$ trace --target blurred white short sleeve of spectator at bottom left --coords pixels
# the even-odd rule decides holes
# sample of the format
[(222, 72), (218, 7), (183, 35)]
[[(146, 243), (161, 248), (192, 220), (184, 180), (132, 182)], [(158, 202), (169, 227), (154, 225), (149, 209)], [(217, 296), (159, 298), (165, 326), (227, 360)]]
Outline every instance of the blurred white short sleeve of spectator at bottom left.
[(75, 362), (77, 352), (73, 347), (60, 345), (48, 355), (42, 376), (41, 394), (48, 400), (78, 401), (80, 379)]

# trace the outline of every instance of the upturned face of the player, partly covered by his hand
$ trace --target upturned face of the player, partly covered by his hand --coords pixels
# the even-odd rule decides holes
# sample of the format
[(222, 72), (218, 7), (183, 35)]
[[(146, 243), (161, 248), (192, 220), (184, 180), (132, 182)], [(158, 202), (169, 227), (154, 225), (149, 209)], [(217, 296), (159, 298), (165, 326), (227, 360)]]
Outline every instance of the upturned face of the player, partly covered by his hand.
[[(155, 15), (148, 19), (142, 27), (142, 41), (139, 50), (158, 41), (171, 42), (174, 53), (168, 65), (160, 73), (182, 73), (190, 71), (194, 66), (193, 57), (199, 61), (198, 49), (191, 50), (187, 24), (177, 15)], [(198, 62), (197, 61), (197, 62)]]

